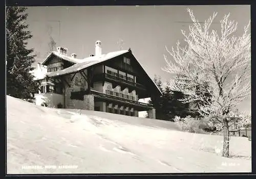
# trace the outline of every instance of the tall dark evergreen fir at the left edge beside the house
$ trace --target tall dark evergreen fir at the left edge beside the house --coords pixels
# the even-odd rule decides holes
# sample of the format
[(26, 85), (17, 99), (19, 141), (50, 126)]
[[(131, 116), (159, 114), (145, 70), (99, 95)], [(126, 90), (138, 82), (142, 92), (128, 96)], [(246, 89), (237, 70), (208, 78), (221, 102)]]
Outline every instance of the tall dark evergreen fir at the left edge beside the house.
[(27, 49), (27, 40), (32, 37), (24, 24), (28, 14), (25, 7), (6, 8), (6, 43), (7, 43), (7, 95), (16, 98), (32, 98), (35, 89), (33, 75), (29, 73), (35, 55), (33, 49)]

